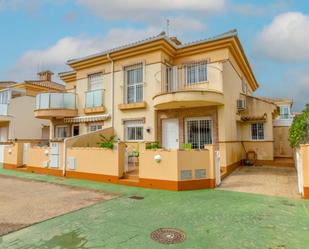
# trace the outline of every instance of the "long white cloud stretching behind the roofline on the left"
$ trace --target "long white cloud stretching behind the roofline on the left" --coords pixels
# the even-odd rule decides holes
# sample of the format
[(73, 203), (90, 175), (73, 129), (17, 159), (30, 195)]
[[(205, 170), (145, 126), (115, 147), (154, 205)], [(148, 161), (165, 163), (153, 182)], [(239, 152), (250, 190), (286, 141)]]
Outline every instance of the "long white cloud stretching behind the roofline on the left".
[(102, 37), (64, 37), (48, 48), (25, 52), (5, 75), (12, 80), (25, 80), (32, 79), (39, 69), (67, 70), (65, 63), (69, 59), (102, 52), (158, 33), (159, 30), (150, 27), (146, 30), (112, 29)]

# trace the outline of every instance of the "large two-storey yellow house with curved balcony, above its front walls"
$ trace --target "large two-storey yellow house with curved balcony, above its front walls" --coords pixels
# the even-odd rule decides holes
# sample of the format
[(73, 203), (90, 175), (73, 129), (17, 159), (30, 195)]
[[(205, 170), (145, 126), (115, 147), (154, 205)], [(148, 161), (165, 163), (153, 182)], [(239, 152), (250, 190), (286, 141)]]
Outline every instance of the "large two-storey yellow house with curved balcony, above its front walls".
[(37, 96), (35, 116), (50, 120), (50, 139), (112, 127), (132, 146), (213, 144), (222, 172), (248, 151), (274, 159), (277, 106), (252, 96), (259, 85), (234, 30), (187, 44), (161, 34), (67, 64), (66, 93)]

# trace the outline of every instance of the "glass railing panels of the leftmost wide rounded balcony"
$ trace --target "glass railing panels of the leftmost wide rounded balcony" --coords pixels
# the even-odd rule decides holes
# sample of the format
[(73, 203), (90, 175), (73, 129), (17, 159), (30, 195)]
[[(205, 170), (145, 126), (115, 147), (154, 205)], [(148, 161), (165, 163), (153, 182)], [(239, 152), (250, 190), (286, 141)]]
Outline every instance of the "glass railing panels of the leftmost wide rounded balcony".
[(36, 96), (36, 109), (76, 109), (75, 93), (40, 93)]

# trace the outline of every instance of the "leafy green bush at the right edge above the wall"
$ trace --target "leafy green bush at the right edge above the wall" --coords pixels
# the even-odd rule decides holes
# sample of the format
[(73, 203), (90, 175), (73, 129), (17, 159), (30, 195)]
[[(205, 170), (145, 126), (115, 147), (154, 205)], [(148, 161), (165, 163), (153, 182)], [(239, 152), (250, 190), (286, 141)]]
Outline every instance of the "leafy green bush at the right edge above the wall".
[(289, 130), (289, 141), (292, 148), (297, 147), (301, 143), (309, 142), (309, 104), (306, 109), (297, 115)]

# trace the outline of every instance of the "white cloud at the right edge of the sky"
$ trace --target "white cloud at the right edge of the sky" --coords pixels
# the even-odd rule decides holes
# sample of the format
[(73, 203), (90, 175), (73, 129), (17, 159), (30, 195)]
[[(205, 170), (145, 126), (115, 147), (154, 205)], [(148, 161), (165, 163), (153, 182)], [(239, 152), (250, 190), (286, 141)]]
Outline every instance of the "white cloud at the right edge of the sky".
[(276, 16), (256, 37), (256, 54), (281, 62), (309, 60), (309, 16), (287, 12)]

